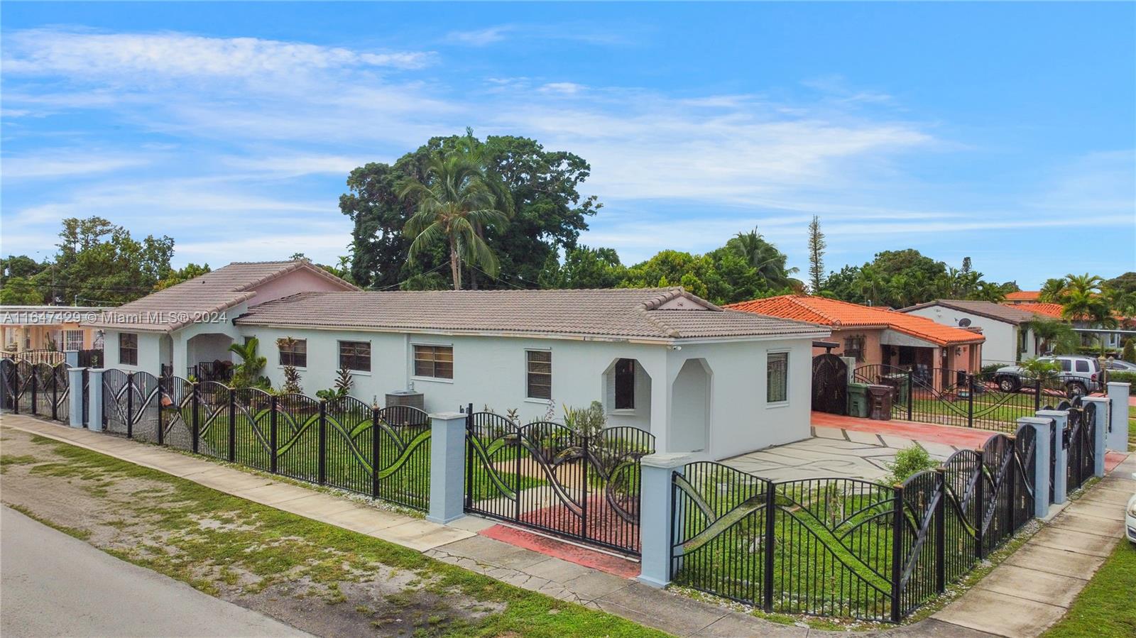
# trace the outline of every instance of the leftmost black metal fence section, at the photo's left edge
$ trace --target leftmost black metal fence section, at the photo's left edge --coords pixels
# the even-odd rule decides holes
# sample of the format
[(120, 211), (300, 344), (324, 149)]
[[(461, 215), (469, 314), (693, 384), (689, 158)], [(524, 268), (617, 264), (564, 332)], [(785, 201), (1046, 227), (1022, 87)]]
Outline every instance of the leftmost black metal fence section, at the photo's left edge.
[(0, 408), (56, 421), (70, 420), (67, 364), (0, 360)]

